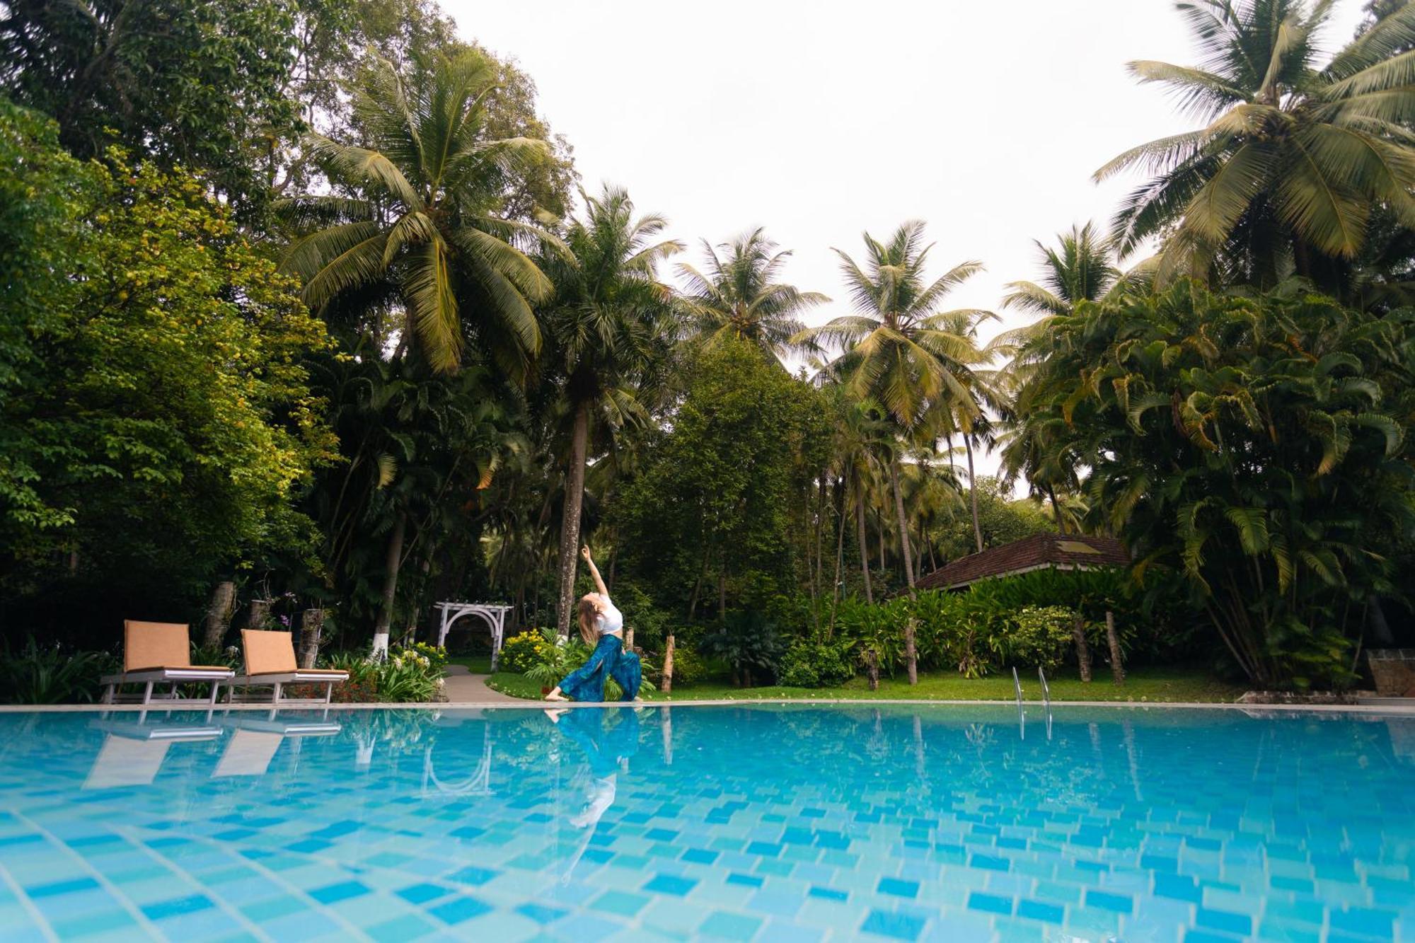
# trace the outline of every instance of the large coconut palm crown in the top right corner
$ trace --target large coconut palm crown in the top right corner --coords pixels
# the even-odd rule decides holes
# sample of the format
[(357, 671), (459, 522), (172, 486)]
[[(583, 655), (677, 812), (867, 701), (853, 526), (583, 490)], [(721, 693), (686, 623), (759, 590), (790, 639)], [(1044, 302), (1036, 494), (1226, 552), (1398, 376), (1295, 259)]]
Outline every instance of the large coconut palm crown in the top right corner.
[[(1133, 147), (1095, 173), (1155, 176), (1114, 222), (1121, 256), (1169, 234), (1160, 278), (1207, 275), (1272, 285), (1327, 280), (1388, 208), (1415, 225), (1415, 4), (1404, 4), (1319, 65), (1332, 1), (1179, 3), (1201, 67), (1131, 62), (1167, 85), (1204, 126)], [(1336, 265), (1333, 265), (1336, 263)]]

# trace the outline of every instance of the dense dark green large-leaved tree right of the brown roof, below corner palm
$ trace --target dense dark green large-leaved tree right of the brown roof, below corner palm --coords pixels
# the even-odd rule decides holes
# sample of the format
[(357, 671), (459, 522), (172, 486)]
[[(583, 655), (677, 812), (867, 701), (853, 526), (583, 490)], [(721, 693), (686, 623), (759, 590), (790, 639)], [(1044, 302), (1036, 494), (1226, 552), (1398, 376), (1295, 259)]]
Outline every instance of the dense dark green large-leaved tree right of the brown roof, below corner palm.
[(1341, 684), (1365, 603), (1415, 528), (1408, 313), (1300, 287), (1081, 303), (1029, 406), (1091, 469), (1087, 525), (1136, 576), (1183, 573), (1258, 684)]

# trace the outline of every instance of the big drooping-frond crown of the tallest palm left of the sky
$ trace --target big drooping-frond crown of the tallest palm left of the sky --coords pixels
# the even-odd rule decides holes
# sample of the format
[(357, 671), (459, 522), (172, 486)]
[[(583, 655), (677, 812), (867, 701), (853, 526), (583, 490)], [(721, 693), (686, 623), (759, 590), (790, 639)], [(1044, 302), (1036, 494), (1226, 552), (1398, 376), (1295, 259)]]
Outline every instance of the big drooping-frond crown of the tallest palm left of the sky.
[(541, 350), (531, 306), (549, 297), (550, 282), (516, 242), (552, 236), (498, 210), (546, 143), (487, 136), (494, 78), (495, 64), (475, 51), (440, 61), (419, 88), (376, 61), (352, 89), (368, 140), (310, 137), (344, 193), (280, 204), (304, 232), (282, 262), (304, 280), (304, 302), (321, 313), (350, 296), (400, 309), (405, 350), (439, 372), (460, 365), (468, 327), (514, 374)]

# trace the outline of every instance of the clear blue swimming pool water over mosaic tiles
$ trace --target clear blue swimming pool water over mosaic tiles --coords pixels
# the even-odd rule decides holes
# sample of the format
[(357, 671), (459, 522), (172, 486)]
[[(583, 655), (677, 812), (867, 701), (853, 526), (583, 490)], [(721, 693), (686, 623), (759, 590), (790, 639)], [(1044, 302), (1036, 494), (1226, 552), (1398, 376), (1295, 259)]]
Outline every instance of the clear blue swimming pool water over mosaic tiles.
[(1415, 940), (1415, 718), (0, 715), (0, 939)]

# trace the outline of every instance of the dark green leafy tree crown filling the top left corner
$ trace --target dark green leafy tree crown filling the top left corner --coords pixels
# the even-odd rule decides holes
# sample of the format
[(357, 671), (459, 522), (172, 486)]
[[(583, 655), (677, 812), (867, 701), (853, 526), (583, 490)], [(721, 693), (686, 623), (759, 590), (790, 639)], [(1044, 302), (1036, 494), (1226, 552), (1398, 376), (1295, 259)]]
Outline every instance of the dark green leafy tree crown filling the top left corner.
[(20, 0), (0, 7), (0, 92), (42, 110), (81, 157), (120, 144), (204, 173), (238, 208), (300, 130), (286, 93), (296, 0)]

